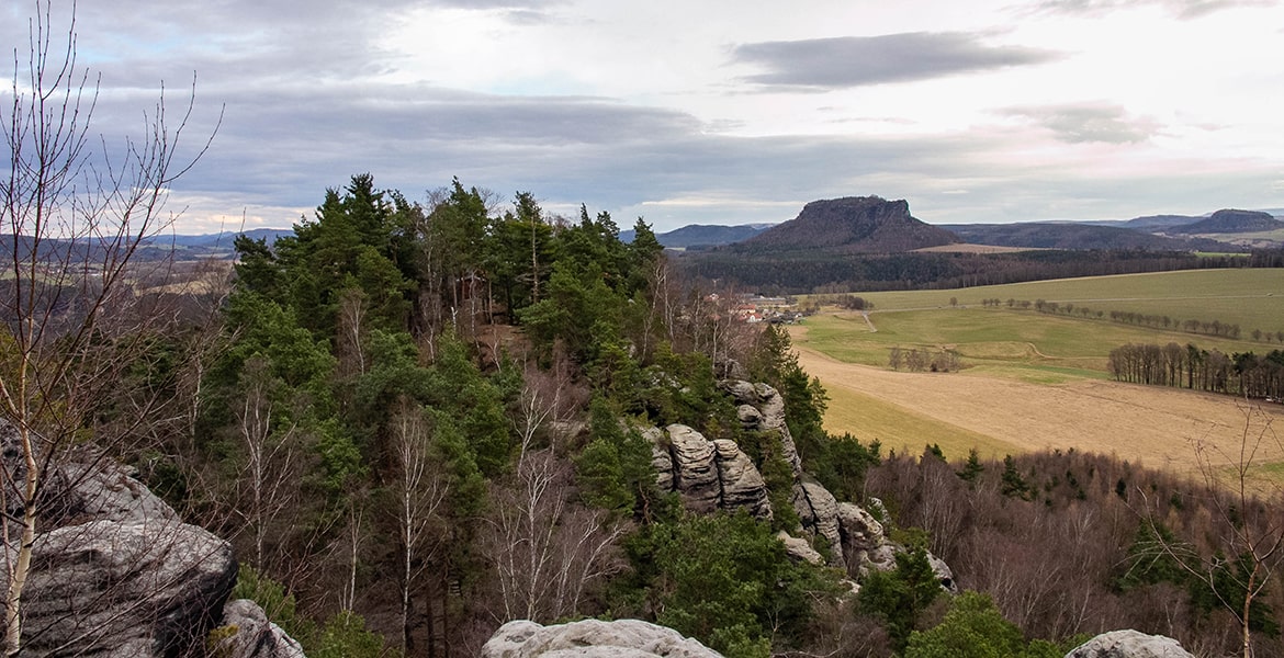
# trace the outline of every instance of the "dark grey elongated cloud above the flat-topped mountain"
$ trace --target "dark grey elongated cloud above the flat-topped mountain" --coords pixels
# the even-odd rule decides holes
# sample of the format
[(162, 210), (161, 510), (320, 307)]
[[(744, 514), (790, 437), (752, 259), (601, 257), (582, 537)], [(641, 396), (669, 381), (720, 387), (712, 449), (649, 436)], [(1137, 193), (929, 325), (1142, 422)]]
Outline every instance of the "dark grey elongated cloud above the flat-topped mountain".
[(1059, 55), (1035, 47), (990, 46), (978, 32), (907, 32), (743, 44), (736, 46), (733, 56), (737, 63), (767, 69), (749, 76), (750, 82), (844, 89), (1040, 64)]

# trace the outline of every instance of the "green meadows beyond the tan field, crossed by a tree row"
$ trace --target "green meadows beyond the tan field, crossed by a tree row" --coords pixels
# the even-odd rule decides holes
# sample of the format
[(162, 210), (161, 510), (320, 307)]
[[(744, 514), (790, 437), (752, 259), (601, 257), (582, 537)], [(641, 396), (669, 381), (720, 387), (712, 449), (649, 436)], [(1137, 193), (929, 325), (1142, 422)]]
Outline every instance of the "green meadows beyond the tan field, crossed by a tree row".
[[(862, 292), (873, 301), (871, 331), (859, 313), (828, 309), (806, 319), (809, 346), (836, 359), (886, 366), (891, 348), (948, 348), (964, 366), (994, 375), (1061, 381), (1102, 377), (1112, 349), (1127, 342), (1193, 342), (1224, 353), (1270, 351), (1253, 328), (1284, 330), (1284, 269), (1217, 269), (1039, 281), (963, 290)], [(950, 304), (950, 299), (955, 304)], [(982, 305), (1000, 299), (999, 307)], [(1106, 317), (1018, 310), (1005, 301), (1072, 303)], [(1238, 323), (1239, 340), (1112, 322), (1111, 310)]]

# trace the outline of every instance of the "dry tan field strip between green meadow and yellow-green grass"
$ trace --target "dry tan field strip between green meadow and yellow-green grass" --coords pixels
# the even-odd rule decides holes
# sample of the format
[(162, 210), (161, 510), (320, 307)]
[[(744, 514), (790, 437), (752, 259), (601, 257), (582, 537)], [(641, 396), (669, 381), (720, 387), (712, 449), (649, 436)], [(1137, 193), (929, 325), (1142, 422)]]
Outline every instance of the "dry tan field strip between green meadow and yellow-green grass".
[[(795, 335), (800, 364), (826, 387), (868, 395), (936, 421), (971, 430), (1023, 450), (1075, 448), (1116, 454), (1150, 467), (1189, 472), (1195, 441), (1238, 455), (1245, 412), (1234, 398), (1176, 389), (1080, 380), (1027, 384), (963, 373), (908, 373), (835, 360), (808, 349)], [(1284, 439), (1284, 409), (1266, 405)], [(1261, 421), (1261, 418), (1257, 418)], [(1261, 422), (1253, 423), (1260, 428)], [(859, 428), (851, 428), (859, 436)], [(923, 437), (931, 443), (931, 437)], [(1279, 440), (1260, 457), (1284, 462)]]

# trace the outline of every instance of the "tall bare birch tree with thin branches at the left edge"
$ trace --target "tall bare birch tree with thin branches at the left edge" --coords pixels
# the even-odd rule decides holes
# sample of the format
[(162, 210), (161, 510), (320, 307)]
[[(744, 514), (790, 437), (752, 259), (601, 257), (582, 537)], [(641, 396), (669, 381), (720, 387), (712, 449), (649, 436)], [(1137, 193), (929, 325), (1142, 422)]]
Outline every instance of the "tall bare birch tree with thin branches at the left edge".
[[(119, 313), (131, 300), (131, 271), (139, 248), (171, 226), (167, 192), (208, 149), (181, 159), (180, 141), (195, 94), (177, 123), (164, 94), (145, 119), (146, 137), (126, 140), (113, 153), (95, 153), (90, 130), (96, 81), (76, 62), (74, 18), (65, 38), (55, 38), (49, 3), (37, 3), (28, 51), (14, 50), (8, 108), (0, 131), (9, 172), (0, 178), (0, 222), (5, 245), (4, 377), (0, 405), (17, 427), (21, 459), (0, 473), (10, 523), (6, 545), (5, 652), (22, 650), (23, 590), (41, 523), (44, 475), (86, 423), (96, 394), (112, 385), (122, 353), (99, 344), (137, 333), (137, 326), (108, 326), (104, 318), (155, 317)], [(209, 136), (213, 139), (213, 135)], [(103, 357), (109, 357), (104, 359)], [(13, 536), (17, 534), (18, 537)]]

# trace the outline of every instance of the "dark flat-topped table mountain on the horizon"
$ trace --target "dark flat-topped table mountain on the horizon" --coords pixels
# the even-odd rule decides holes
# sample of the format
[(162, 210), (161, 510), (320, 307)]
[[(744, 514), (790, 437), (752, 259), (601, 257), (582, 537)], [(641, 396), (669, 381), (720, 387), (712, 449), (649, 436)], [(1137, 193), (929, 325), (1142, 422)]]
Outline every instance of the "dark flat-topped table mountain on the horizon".
[(958, 241), (954, 233), (910, 215), (905, 200), (846, 196), (811, 201), (796, 218), (732, 245), (732, 250), (898, 254)]

